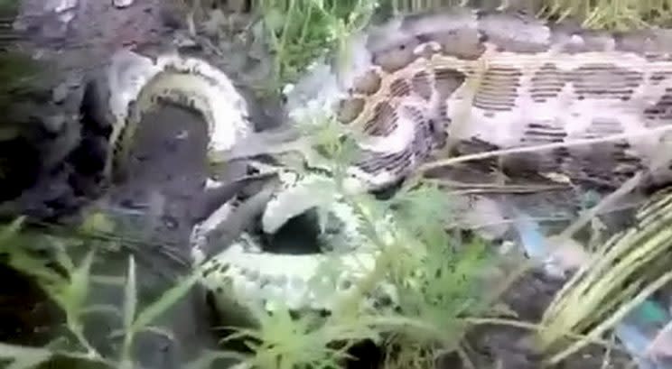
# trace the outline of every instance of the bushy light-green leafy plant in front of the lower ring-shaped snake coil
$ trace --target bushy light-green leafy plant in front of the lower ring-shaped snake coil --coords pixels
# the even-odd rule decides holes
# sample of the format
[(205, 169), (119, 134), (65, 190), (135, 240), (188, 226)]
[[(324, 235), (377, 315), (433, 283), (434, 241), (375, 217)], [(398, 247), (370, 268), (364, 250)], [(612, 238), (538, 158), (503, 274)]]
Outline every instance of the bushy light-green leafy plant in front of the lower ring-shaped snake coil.
[[(322, 143), (325, 156), (335, 166), (350, 157), (347, 144)], [(477, 237), (461, 244), (446, 232), (450, 198), (432, 185), (419, 184), (378, 200), (346, 192), (340, 171), (334, 168), (333, 172), (334, 188), (359, 213), (364, 223), (361, 231), (381, 253), (374, 268), (355, 282), (354, 293), (337, 302), (328, 318), (308, 314), (294, 320), (287, 310), (260, 311), (260, 327), (240, 329), (227, 340), (253, 340), (254, 354), (246, 362), (264, 369), (338, 368), (347, 358), (346, 349), (364, 339), (394, 353), (390, 363), (408, 362), (410, 357), (418, 363), (433, 362), (440, 353), (459, 351), (469, 327), (464, 318), (489, 308), (486, 294), (476, 288), (493, 263), (486, 244)], [(377, 219), (390, 216), (396, 226), (380, 229)], [(332, 267), (338, 272), (338, 265)], [(316, 278), (328, 277), (331, 270), (325, 267), (326, 274)], [(395, 287), (398, 309), (363, 309), (381, 283)]]

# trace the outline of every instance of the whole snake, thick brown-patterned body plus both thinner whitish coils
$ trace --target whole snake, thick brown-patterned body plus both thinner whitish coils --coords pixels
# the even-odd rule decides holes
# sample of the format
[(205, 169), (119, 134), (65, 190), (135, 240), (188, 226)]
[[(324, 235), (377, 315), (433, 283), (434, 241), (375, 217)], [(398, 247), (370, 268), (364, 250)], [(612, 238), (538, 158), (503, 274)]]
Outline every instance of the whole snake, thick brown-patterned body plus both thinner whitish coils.
[[(509, 154), (497, 165), (509, 177), (537, 173), (614, 189), (654, 168), (665, 152), (664, 130), (672, 122), (672, 30), (587, 31), (514, 12), (453, 8), (371, 25), (358, 37), (364, 47), (350, 72), (338, 78), (337, 93), (297, 98), (303, 101), (299, 106), (326, 106), (356, 137), (358, 160), (347, 174), (359, 189), (386, 188), (437, 154), (540, 144), (552, 147)], [(143, 113), (163, 100), (203, 113), (210, 152), (227, 152), (253, 134), (243, 98), (207, 62), (172, 54), (140, 64), (139, 77), (126, 77), (135, 81), (132, 88), (111, 101), (116, 125), (109, 175), (123, 171)], [(594, 139), (602, 142), (570, 144)], [(668, 163), (655, 168), (649, 180), (666, 183)], [(281, 172), (284, 189), (276, 191), (262, 218), (266, 233), (318, 205), (297, 199), (317, 198), (313, 191), (331, 183), (322, 172)], [(329, 200), (350, 247), (339, 256), (344, 269), (334, 288), (347, 292), (348, 279), (369, 270), (376, 253), (358, 238), (359, 217), (352, 209), (342, 198)], [(230, 304), (238, 295), (238, 301), (266, 303), (266, 309), (272, 298), (292, 309), (331, 309), (337, 294), (319, 295), (309, 283), (323, 254), (265, 253), (244, 233), (203, 261), (206, 235), (236, 207), (236, 201), (224, 204), (192, 234), (195, 262), (205, 271), (202, 282), (220, 302)], [(380, 219), (378, 226), (394, 229), (390, 222)]]

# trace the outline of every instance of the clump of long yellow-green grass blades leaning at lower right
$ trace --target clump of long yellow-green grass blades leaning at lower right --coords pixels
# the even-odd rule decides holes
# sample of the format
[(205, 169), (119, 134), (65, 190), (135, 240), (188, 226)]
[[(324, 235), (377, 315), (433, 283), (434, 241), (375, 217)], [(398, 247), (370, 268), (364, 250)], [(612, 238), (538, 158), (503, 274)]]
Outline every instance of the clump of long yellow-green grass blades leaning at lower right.
[[(539, 347), (553, 354), (551, 364), (563, 360), (596, 340), (627, 318), (648, 326), (667, 324), (667, 311), (645, 302), (672, 281), (667, 265), (672, 242), (668, 213), (672, 192), (656, 193), (639, 208), (637, 225), (601, 244), (594, 257), (565, 283), (546, 309), (539, 332)], [(630, 317), (629, 317), (630, 316)], [(568, 332), (587, 332), (583, 339), (567, 342)]]

